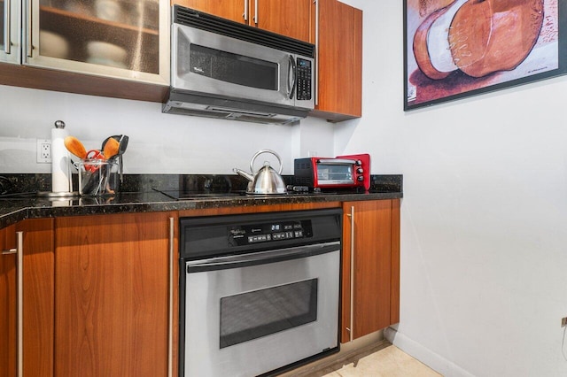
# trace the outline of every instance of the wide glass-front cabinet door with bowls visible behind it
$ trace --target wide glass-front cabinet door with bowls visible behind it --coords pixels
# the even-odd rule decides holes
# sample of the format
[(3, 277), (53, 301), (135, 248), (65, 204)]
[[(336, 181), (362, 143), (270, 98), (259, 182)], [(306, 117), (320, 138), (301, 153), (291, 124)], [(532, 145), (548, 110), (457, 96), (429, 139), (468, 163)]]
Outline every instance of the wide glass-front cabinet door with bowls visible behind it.
[(24, 6), (31, 8), (23, 19), (23, 64), (168, 84), (169, 1), (27, 0)]

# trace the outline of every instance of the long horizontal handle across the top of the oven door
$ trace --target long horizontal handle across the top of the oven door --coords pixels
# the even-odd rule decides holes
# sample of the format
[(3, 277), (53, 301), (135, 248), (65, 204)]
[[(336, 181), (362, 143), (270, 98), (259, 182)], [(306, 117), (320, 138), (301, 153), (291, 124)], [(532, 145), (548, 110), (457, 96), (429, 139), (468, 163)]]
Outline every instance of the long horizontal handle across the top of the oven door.
[(313, 257), (340, 250), (340, 242), (325, 242), (314, 245), (299, 246), (288, 249), (260, 251), (250, 254), (234, 255), (200, 259), (186, 262), (187, 273), (202, 273), (206, 271), (229, 270), (248, 267), (251, 265), (266, 265), (283, 262), (284, 260)]

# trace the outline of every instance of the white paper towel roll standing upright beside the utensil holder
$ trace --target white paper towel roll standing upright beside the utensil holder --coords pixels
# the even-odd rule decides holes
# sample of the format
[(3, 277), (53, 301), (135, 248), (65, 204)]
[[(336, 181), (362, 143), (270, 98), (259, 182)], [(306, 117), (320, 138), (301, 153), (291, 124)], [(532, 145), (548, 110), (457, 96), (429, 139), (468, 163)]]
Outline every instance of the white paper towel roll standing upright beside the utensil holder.
[(64, 142), (67, 131), (64, 122), (58, 120), (55, 125), (51, 129), (51, 191), (70, 192), (73, 188), (71, 165)]

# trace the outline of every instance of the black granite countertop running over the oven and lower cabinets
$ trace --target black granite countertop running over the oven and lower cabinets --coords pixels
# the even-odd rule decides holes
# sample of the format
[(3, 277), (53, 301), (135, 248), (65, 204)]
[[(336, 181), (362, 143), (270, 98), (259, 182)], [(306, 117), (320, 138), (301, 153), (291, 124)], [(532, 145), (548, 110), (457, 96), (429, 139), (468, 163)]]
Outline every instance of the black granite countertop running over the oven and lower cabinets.
[[(130, 197), (131, 196), (131, 197)], [(38, 200), (36, 198), (18, 199), (7, 207), (0, 203), (0, 228), (9, 227), (24, 219), (56, 218), (64, 216), (85, 216), (113, 213), (169, 212), (199, 210), (221, 207), (242, 207), (270, 204), (306, 204), (325, 202), (350, 202), (363, 200), (397, 199), (402, 192), (366, 192), (361, 194), (318, 194), (293, 196), (237, 196), (223, 198), (195, 198), (175, 200), (158, 193), (142, 195), (131, 193), (123, 195), (117, 203), (105, 204), (105, 198), (91, 198), (92, 203), (83, 204), (81, 200), (59, 201)], [(149, 196), (144, 198), (144, 196)], [(157, 197), (156, 197), (157, 196)], [(103, 203), (99, 203), (101, 200)], [(14, 203), (15, 202), (15, 203)], [(76, 202), (76, 203), (74, 203)], [(59, 206), (60, 205), (60, 206)]]

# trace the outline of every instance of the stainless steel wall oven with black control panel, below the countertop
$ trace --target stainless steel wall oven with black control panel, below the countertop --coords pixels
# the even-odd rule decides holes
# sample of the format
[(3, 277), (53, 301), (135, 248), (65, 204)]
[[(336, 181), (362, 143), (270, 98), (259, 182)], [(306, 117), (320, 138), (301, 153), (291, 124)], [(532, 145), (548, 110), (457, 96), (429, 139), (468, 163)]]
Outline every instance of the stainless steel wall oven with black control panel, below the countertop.
[(338, 351), (340, 209), (180, 221), (180, 376), (256, 376)]

